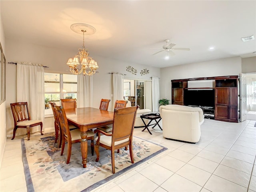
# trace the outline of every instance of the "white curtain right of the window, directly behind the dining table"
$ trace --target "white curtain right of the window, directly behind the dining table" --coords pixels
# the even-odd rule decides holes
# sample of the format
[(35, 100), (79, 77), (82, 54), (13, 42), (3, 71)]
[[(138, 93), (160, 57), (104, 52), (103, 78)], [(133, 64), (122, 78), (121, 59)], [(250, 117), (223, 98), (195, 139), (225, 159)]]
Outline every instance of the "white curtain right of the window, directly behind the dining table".
[(93, 76), (79, 74), (77, 77), (77, 107), (91, 107)]

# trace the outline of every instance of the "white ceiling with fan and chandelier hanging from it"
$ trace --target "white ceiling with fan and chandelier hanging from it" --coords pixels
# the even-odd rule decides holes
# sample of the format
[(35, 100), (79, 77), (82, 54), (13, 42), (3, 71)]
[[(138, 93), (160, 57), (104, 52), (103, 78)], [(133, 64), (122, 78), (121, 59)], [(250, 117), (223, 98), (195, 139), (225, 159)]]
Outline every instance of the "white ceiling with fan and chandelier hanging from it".
[[(86, 23), (96, 33), (85, 36), (90, 56), (167, 67), (233, 56), (256, 56), (256, 1), (10, 1), (0, 0), (6, 42), (26, 41), (77, 54), (83, 37), (71, 24)], [(170, 39), (175, 55), (165, 60)], [(214, 50), (210, 50), (214, 47)], [(67, 56), (72, 57), (74, 55)], [(64, 55), (66, 56), (66, 55)]]

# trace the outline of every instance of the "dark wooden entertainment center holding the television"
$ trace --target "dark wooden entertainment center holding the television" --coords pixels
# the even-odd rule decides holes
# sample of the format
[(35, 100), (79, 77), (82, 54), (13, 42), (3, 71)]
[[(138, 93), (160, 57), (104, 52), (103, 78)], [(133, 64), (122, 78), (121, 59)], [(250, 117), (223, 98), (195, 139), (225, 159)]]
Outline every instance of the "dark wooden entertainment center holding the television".
[(172, 104), (199, 106), (205, 118), (239, 122), (239, 97), (238, 76), (172, 80)]

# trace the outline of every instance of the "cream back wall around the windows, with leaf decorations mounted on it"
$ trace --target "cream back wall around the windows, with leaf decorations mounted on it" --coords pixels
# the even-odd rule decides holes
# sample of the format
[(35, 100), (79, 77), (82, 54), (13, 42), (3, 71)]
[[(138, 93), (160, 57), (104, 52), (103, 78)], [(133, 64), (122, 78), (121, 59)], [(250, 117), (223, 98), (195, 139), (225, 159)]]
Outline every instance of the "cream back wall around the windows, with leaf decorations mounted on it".
[[(6, 62), (32, 62), (43, 64), (44, 66), (49, 66), (49, 68), (45, 68), (45, 72), (70, 74), (66, 62), (69, 57), (77, 54), (77, 51), (78, 50), (60, 50), (6, 39)], [(152, 76), (160, 77), (160, 68), (142, 66), (96, 55), (91, 56), (99, 65), (98, 73), (93, 76), (93, 107), (95, 108), (99, 107), (101, 98), (110, 98), (111, 103), (109, 105), (109, 110), (112, 110), (112, 74), (108, 74), (108, 72), (120, 72), (122, 74), (127, 74), (125, 78), (133, 79), (140, 78), (150, 80)], [(126, 67), (129, 65), (137, 69), (137, 75), (133, 75), (126, 71)], [(140, 76), (140, 70), (143, 70), (144, 68), (149, 69), (150, 73)], [(13, 130), (13, 118), (10, 110), (10, 103), (16, 102), (16, 66), (13, 64), (6, 65), (6, 81), (8, 81), (8, 87), (6, 87), (6, 134), (10, 136), (12, 135)], [(53, 121), (52, 118), (52, 126)], [(48, 122), (45, 126), (49, 126), (49, 124), (50, 123)], [(18, 134), (17, 130), (17, 135)]]

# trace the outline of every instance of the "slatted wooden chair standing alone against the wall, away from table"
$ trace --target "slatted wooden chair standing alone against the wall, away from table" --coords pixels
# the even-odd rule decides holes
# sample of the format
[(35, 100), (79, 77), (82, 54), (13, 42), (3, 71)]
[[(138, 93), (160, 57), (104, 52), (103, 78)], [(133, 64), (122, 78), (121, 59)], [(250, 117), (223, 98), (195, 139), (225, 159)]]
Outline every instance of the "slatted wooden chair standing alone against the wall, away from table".
[(41, 135), (43, 135), (42, 133), (43, 123), (41, 120), (31, 120), (30, 112), (28, 109), (28, 102), (10, 103), (10, 105), (11, 105), (12, 115), (14, 119), (14, 129), (13, 129), (12, 140), (15, 138), (17, 128), (26, 128), (28, 140), (30, 140), (30, 128), (40, 125)]

